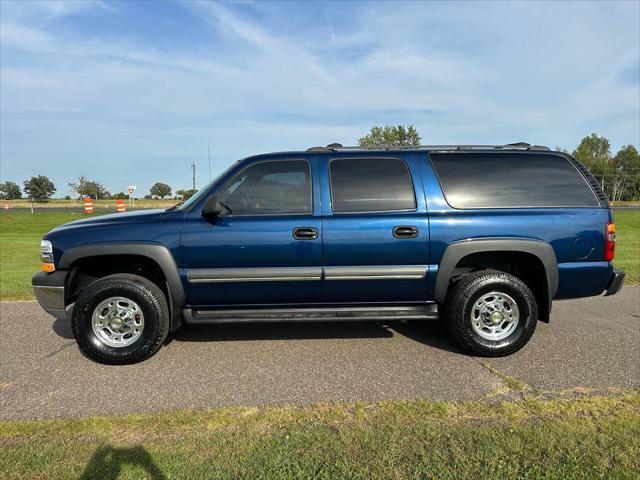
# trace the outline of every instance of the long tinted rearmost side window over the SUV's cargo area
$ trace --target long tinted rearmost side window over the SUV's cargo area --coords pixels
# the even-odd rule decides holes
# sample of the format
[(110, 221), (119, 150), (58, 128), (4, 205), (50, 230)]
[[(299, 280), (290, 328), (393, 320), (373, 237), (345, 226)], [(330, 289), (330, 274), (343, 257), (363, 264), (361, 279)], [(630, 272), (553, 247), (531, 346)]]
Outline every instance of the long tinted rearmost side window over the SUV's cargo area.
[(429, 154), (454, 208), (598, 207), (582, 175), (559, 155)]

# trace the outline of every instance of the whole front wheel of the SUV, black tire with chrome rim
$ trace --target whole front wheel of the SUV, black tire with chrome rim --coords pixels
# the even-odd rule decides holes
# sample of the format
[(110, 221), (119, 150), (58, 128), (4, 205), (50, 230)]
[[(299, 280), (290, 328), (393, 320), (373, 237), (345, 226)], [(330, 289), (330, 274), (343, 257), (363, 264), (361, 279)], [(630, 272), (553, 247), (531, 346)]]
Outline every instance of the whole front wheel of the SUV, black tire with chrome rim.
[(80, 349), (105, 364), (145, 360), (158, 351), (169, 332), (164, 293), (138, 275), (101, 278), (82, 291), (71, 319)]

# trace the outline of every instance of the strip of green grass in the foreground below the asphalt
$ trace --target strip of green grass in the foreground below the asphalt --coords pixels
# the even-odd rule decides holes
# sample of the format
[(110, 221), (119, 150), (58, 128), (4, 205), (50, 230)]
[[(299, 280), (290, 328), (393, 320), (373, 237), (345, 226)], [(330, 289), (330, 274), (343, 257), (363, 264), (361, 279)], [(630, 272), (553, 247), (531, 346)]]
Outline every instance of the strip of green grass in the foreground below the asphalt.
[(640, 394), (0, 422), (6, 479), (635, 479)]

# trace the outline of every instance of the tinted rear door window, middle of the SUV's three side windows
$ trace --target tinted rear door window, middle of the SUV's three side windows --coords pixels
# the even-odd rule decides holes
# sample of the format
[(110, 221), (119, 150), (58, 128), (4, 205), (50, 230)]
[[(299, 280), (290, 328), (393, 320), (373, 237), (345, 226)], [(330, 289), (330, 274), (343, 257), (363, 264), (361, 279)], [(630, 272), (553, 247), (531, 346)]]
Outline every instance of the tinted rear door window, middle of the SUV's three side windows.
[(414, 210), (407, 165), (398, 158), (345, 158), (329, 164), (334, 212)]

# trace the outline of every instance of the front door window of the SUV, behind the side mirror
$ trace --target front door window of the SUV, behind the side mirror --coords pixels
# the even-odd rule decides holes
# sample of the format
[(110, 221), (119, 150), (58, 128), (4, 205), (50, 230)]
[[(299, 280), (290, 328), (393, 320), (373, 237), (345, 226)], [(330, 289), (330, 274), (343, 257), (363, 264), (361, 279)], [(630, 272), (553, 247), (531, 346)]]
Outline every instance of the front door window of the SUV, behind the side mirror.
[(256, 163), (217, 193), (231, 215), (287, 215), (313, 212), (311, 171), (306, 160)]

